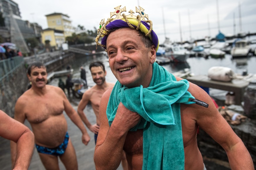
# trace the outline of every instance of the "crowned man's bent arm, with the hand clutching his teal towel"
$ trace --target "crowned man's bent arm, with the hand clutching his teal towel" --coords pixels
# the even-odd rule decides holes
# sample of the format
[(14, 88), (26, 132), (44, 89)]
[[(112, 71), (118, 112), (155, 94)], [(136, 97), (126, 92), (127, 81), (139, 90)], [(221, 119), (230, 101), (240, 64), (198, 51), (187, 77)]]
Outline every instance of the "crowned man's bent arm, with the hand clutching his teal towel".
[(94, 152), (96, 169), (117, 169), (123, 154), (123, 145), (126, 135), (141, 119), (141, 116), (128, 110), (122, 103), (119, 104), (116, 117), (111, 127), (108, 125), (106, 108), (111, 93), (108, 89), (101, 98), (99, 118), (100, 129)]

